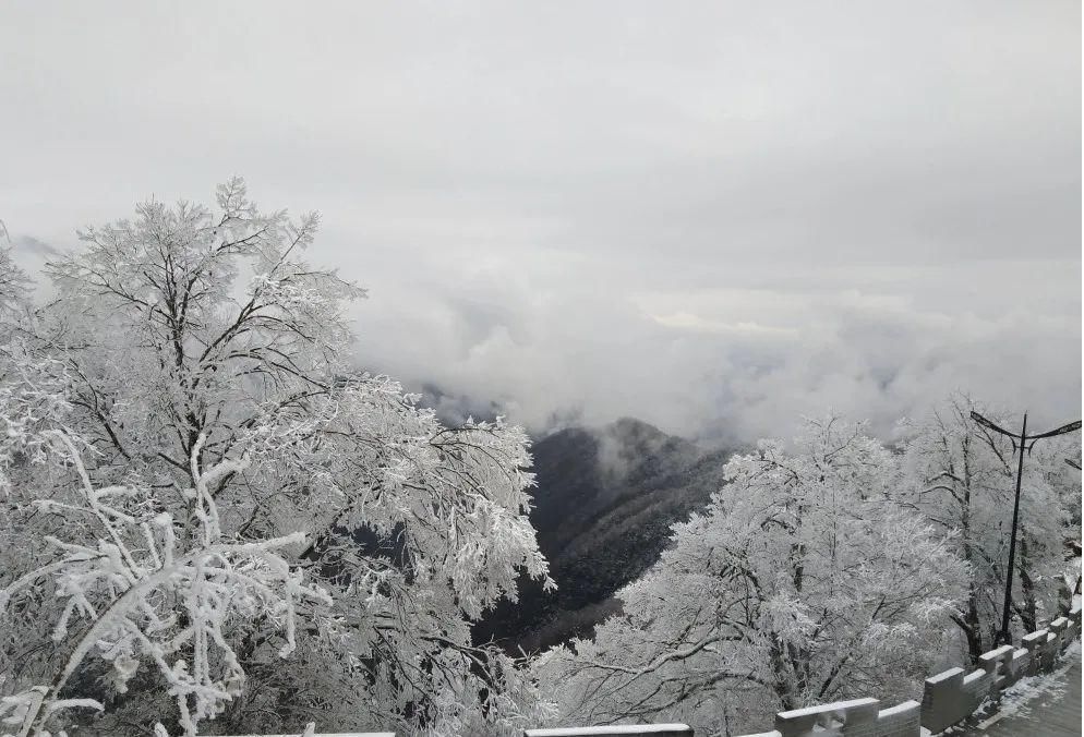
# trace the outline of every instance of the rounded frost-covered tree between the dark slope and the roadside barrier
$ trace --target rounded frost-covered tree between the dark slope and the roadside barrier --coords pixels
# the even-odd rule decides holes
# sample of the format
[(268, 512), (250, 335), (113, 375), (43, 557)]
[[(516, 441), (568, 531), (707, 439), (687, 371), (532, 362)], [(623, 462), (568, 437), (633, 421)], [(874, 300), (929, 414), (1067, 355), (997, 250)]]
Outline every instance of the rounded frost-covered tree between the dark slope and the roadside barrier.
[(621, 592), (623, 614), (543, 657), (565, 721), (724, 734), (779, 709), (914, 693), (965, 567), (860, 425), (810, 421), (796, 448), (734, 457), (707, 511)]

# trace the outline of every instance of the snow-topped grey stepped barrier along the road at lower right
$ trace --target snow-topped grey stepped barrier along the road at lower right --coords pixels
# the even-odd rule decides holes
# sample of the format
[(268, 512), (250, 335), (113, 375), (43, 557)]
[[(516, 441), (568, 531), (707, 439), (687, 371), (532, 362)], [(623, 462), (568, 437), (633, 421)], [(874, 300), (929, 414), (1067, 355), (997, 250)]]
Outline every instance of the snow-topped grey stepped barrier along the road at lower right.
[(920, 737), (960, 724), (987, 701), (1026, 676), (1049, 673), (1069, 644), (1081, 636), (1081, 607), (1045, 629), (1025, 635), (1020, 648), (1002, 645), (978, 659), (978, 668), (950, 668), (926, 679), (923, 701), (880, 709), (877, 699), (855, 699), (775, 715), (775, 729), (746, 737)]

